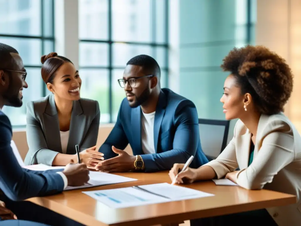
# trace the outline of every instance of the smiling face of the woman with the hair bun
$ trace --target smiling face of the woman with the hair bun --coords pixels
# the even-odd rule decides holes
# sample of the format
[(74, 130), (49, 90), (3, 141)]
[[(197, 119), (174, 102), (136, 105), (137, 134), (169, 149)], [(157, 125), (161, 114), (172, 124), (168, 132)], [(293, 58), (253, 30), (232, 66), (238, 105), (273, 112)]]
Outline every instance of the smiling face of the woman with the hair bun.
[(65, 62), (56, 71), (53, 83), (47, 83), (47, 88), (59, 98), (79, 100), (81, 85), (82, 80), (74, 65), (70, 62)]

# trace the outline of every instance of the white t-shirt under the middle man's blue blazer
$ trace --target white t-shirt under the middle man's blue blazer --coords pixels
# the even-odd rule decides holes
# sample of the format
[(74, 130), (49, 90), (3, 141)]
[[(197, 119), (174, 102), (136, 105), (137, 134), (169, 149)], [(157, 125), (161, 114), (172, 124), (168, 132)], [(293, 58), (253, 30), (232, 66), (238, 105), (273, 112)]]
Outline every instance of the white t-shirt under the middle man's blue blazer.
[(154, 144), (154, 122), (156, 111), (141, 115), (141, 145), (144, 154), (156, 153)]

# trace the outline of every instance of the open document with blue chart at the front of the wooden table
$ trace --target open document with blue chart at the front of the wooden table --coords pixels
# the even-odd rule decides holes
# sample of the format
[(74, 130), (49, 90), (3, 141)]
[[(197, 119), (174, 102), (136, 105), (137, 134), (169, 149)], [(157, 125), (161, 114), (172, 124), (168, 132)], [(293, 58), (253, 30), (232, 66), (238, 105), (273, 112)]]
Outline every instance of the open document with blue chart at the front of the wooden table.
[(213, 194), (167, 183), (83, 193), (114, 209), (214, 196)]

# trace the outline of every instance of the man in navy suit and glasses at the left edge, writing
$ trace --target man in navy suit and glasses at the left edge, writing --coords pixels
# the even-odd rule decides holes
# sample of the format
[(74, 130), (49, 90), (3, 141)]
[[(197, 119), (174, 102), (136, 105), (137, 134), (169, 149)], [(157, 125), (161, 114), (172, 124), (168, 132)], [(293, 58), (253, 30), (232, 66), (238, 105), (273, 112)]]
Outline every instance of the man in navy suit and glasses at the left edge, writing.
[[(26, 75), (17, 50), (0, 43), (0, 109), (4, 105), (22, 106), (22, 90), (28, 87)], [(70, 164), (64, 171), (41, 172), (21, 168), (11, 149), (11, 123), (1, 110), (0, 137), (0, 189), (11, 200), (60, 193), (67, 185), (80, 186), (89, 179), (85, 164)], [(12, 222), (18, 224), (17, 220)], [(34, 225), (33, 222), (29, 224)]]

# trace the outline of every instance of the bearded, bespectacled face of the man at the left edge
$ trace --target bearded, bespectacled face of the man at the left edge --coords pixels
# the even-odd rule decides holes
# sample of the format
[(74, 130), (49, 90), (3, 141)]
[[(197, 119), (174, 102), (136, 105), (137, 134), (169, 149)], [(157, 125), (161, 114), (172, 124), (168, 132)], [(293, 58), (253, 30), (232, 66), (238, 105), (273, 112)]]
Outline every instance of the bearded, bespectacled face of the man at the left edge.
[(26, 70), (22, 58), (17, 53), (10, 53), (11, 63), (7, 70), (0, 71), (0, 83), (3, 88), (4, 105), (21, 107), (23, 102), (22, 90), (27, 88), (25, 82)]

